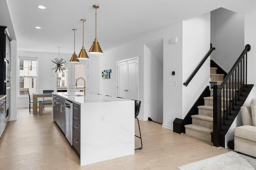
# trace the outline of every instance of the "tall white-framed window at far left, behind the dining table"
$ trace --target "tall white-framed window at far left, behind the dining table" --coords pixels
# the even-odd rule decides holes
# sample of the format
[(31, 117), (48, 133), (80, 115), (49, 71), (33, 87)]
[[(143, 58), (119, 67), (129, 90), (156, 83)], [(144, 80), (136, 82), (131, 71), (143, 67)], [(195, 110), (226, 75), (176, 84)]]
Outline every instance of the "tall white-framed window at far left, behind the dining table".
[(36, 93), (37, 80), (37, 59), (28, 57), (19, 57), (20, 72), (19, 72), (19, 94), (27, 96)]

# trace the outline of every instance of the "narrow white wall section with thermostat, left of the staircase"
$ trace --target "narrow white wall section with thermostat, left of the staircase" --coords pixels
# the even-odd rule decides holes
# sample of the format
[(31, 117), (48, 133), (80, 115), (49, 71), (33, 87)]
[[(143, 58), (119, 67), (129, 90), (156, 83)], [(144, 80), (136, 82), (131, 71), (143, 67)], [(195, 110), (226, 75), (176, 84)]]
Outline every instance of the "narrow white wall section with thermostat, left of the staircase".
[[(182, 118), (182, 26), (183, 22), (174, 23), (164, 28), (164, 90), (163, 90), (163, 124), (162, 127), (173, 129), (173, 121)], [(170, 44), (171, 38), (178, 42)], [(175, 70), (176, 75), (171, 72)], [(174, 86), (177, 82), (177, 86)]]

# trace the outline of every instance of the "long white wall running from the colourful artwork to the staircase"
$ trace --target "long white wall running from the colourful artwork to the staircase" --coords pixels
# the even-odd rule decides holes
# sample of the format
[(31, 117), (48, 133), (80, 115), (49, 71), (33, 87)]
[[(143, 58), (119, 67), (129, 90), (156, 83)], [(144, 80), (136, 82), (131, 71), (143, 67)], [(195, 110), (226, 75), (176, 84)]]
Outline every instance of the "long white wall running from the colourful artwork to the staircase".
[[(185, 24), (184, 29), (183, 24)], [(183, 32), (185, 38), (182, 35)], [(174, 37), (178, 37), (178, 42), (170, 44), (170, 39)], [(203, 87), (194, 90), (194, 87), (198, 85), (193, 85), (193, 82), (190, 82), (192, 85), (189, 85), (192, 90), (189, 87), (184, 89), (183, 86), (184, 79), (188, 77), (191, 70), (196, 67), (210, 49), (210, 13), (188, 21), (174, 23), (115, 49), (106, 51), (100, 57), (100, 69), (112, 69), (113, 71), (112, 78), (108, 81), (100, 80), (100, 93), (106, 94), (108, 92), (111, 96), (115, 96), (116, 85), (114, 82), (116, 81), (116, 69), (113, 68), (116, 67), (116, 61), (139, 56), (139, 100), (142, 101), (139, 118), (147, 120), (148, 116), (151, 115), (150, 109), (152, 105), (152, 85), (150, 85), (152, 79), (148, 76), (148, 71), (154, 70), (156, 66), (152, 67), (152, 61), (146, 60), (146, 56), (151, 56), (151, 53), (144, 48), (144, 44), (160, 38), (163, 38), (164, 45), (162, 126), (172, 129), (174, 119), (176, 117), (183, 117), (185, 112), (187, 112), (189, 107), (194, 104), (193, 102), (201, 94), (207, 82), (209, 82), (210, 60), (208, 60), (208, 64), (205, 64), (202, 72), (198, 74), (200, 80), (202, 79), (202, 75), (204, 75), (205, 80), (203, 82), (205, 83)], [(183, 43), (184, 40), (185, 42)], [(185, 45), (183, 51), (182, 45)], [(184, 63), (182, 62), (183, 56), (186, 60)], [(171, 76), (173, 70), (176, 71), (175, 76)], [(174, 81), (177, 82), (177, 86), (174, 86)], [(154, 86), (156, 85), (154, 84)], [(191, 94), (191, 91), (194, 93)], [(183, 96), (186, 98), (184, 101), (182, 100)]]

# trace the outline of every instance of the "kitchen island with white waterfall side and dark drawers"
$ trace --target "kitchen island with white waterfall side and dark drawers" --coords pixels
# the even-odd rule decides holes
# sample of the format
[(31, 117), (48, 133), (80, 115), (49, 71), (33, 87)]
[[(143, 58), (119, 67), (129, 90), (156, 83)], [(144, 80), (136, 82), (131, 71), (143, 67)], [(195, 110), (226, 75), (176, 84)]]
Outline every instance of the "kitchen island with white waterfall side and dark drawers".
[[(97, 94), (53, 93), (53, 107), (58, 101), (72, 102), (72, 143), (80, 154), (80, 165), (134, 154), (134, 101)], [(55, 100), (55, 102), (54, 102)], [(64, 104), (66, 105), (66, 104)], [(53, 120), (60, 123), (53, 108)], [(67, 120), (66, 113), (66, 120)], [(58, 120), (57, 120), (58, 119)], [(64, 125), (65, 126), (65, 125)], [(67, 126), (67, 123), (66, 123)], [(61, 128), (66, 132), (66, 128)], [(67, 137), (67, 135), (66, 135)]]

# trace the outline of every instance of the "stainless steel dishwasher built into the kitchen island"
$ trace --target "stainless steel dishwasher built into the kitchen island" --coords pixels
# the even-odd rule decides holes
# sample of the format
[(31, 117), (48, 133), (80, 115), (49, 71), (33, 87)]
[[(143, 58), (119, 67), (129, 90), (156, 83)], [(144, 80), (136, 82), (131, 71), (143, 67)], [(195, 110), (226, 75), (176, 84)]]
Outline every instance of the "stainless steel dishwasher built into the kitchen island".
[(65, 117), (66, 117), (66, 138), (70, 145), (72, 145), (72, 118), (73, 118), (73, 102), (65, 100)]

